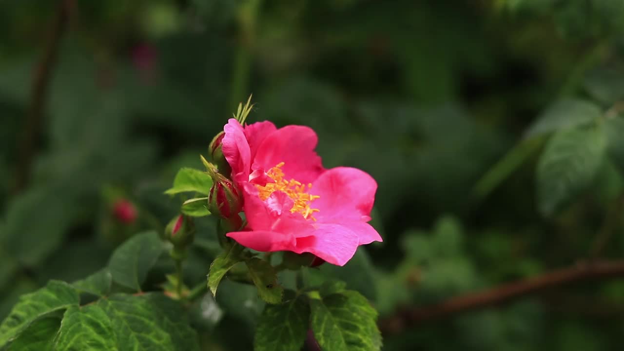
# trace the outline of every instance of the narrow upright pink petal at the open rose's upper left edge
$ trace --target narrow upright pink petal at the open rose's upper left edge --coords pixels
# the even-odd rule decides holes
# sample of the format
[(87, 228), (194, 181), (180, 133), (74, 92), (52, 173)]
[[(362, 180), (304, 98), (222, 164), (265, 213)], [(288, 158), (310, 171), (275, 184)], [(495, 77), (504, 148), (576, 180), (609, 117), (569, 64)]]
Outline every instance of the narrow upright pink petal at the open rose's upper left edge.
[(245, 138), (243, 127), (230, 118), (228, 124), (223, 127), (225, 136), (223, 137), (223, 156), (232, 167), (232, 179), (238, 184), (246, 182), (251, 171), (251, 151)]

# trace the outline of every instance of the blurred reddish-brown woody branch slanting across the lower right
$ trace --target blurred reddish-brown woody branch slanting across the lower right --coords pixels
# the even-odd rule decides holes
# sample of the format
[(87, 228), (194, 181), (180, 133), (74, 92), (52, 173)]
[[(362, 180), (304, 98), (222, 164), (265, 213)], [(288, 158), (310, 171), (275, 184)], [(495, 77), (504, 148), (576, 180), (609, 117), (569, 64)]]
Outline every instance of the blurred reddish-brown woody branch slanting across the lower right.
[(409, 307), (379, 321), (382, 332), (392, 334), (422, 322), (443, 319), (475, 309), (504, 304), (528, 294), (587, 280), (624, 277), (624, 260), (583, 262), (538, 277), (504, 284), (482, 292), (453, 297), (440, 304)]

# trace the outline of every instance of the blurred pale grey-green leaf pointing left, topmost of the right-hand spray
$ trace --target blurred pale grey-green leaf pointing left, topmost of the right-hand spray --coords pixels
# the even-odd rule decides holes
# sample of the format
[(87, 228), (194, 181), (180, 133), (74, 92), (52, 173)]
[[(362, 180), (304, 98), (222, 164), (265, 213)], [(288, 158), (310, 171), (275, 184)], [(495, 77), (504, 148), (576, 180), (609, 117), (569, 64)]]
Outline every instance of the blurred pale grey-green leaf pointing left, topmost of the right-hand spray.
[(575, 126), (583, 126), (596, 121), (602, 115), (600, 107), (583, 100), (560, 100), (548, 107), (529, 128), (527, 137), (555, 132)]

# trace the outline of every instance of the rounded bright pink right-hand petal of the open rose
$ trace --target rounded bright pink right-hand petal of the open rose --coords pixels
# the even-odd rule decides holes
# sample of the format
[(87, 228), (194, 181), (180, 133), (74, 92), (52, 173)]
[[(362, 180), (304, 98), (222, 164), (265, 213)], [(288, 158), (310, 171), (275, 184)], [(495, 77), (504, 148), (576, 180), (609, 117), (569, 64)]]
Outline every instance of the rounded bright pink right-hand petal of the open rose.
[(336, 167), (324, 172), (313, 183), (310, 194), (319, 195), (311, 207), (319, 209), (319, 222), (365, 222), (369, 220), (377, 182), (368, 173), (351, 167)]

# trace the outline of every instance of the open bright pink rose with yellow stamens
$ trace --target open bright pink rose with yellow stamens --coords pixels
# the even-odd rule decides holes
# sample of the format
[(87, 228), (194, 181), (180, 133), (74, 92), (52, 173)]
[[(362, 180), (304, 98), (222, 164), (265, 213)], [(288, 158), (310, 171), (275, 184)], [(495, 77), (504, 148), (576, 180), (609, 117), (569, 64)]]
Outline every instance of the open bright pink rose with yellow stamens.
[(359, 169), (324, 169), (312, 129), (277, 129), (268, 121), (243, 127), (230, 119), (224, 131), (223, 155), (248, 222), (228, 237), (253, 250), (310, 252), (335, 265), (346, 264), (359, 245), (382, 241), (367, 223), (377, 183)]

